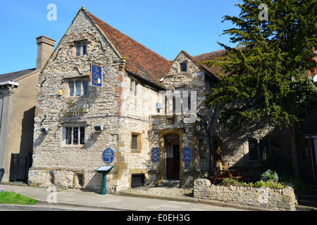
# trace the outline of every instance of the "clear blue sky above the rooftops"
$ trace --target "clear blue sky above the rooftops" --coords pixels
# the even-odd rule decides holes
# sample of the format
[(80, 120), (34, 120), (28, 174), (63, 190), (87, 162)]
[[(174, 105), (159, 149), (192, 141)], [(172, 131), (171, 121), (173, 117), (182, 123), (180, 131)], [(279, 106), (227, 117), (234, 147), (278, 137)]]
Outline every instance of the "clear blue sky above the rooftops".
[[(65, 34), (82, 5), (104, 22), (152, 51), (173, 60), (180, 51), (192, 56), (220, 50), (217, 41), (232, 27), (224, 15), (239, 15), (237, 0), (42, 0), (1, 1), (0, 74), (35, 68), (36, 37), (56, 40)], [(49, 4), (56, 5), (56, 20), (47, 20)]]

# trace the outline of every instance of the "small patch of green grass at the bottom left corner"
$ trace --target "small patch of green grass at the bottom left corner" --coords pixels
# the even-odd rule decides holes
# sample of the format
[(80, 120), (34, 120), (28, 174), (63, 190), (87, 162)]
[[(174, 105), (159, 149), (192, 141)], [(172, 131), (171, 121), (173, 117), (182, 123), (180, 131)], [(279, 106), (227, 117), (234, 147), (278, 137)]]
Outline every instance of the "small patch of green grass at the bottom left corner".
[(0, 192), (0, 204), (9, 204), (9, 205), (35, 205), (37, 200), (33, 198), (25, 197), (24, 195), (1, 191)]

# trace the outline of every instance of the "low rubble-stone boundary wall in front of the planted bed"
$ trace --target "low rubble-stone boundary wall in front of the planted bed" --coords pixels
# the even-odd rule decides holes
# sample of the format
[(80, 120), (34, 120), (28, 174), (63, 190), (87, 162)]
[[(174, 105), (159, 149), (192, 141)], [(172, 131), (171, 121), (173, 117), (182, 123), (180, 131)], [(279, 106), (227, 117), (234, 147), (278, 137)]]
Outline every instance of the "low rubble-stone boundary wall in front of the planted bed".
[(271, 210), (295, 211), (297, 200), (294, 189), (251, 188), (243, 186), (215, 186), (208, 179), (194, 181), (194, 198), (218, 200)]

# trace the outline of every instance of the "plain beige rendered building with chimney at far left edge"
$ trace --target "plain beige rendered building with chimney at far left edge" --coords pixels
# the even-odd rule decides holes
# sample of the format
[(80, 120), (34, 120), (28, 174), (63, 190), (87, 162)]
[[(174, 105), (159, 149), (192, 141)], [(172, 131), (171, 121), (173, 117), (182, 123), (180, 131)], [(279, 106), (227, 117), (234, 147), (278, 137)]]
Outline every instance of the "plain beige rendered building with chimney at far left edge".
[[(37, 37), (36, 68), (0, 75), (0, 168), (3, 182), (27, 181), (32, 160), (36, 84), (55, 41)], [(13, 158), (12, 158), (13, 157)]]

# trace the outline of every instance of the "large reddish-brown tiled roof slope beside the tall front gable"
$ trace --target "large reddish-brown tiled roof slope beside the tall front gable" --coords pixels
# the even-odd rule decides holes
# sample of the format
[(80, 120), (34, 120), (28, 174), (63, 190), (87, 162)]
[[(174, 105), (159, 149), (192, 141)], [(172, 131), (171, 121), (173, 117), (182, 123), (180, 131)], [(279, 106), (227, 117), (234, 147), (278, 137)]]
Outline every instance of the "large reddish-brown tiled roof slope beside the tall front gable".
[(127, 58), (126, 70), (150, 82), (160, 84), (159, 79), (161, 79), (170, 68), (169, 61), (166, 58), (151, 51), (144, 45), (139, 44), (139, 42), (111, 27), (111, 25), (104, 23), (104, 21), (92, 15), (87, 10), (82, 10), (85, 11), (92, 22), (104, 32), (120, 55)]

